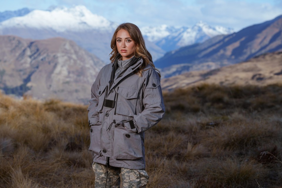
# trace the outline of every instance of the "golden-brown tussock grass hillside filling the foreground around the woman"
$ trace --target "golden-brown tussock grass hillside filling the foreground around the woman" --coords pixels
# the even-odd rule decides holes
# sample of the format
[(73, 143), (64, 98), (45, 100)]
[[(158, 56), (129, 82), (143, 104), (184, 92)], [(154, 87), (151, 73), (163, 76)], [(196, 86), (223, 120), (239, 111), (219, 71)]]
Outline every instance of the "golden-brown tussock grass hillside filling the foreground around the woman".
[[(164, 93), (146, 131), (147, 187), (282, 185), (282, 85)], [(87, 106), (0, 95), (0, 185), (94, 187)]]

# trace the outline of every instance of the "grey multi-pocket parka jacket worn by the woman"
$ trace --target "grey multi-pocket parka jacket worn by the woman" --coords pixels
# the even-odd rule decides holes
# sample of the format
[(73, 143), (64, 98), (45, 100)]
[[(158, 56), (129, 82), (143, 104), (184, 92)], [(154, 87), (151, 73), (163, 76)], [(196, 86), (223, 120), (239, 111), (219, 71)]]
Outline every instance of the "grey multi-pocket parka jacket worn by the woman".
[(128, 169), (145, 168), (144, 131), (164, 116), (160, 77), (152, 66), (133, 65), (113, 80), (115, 63), (104, 66), (91, 88), (88, 107), (93, 161)]

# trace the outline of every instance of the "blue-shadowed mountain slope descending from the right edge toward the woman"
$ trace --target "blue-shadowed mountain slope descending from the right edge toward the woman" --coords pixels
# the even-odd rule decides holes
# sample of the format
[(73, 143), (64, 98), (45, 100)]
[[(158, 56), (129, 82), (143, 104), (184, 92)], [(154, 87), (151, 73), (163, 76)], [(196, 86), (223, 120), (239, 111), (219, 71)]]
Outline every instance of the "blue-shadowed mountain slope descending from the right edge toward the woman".
[(213, 69), (246, 61), (267, 52), (282, 50), (282, 15), (237, 33), (215, 36), (203, 43), (166, 53), (155, 61), (162, 76), (192, 70)]

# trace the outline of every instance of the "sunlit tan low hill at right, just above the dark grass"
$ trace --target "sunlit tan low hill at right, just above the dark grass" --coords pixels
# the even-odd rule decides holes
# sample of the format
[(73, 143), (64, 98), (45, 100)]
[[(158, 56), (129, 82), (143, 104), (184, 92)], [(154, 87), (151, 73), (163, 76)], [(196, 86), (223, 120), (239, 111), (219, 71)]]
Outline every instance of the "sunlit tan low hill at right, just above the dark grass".
[(203, 83), (219, 85), (282, 84), (282, 51), (262, 54), (248, 61), (214, 70), (191, 71), (161, 80), (163, 90)]

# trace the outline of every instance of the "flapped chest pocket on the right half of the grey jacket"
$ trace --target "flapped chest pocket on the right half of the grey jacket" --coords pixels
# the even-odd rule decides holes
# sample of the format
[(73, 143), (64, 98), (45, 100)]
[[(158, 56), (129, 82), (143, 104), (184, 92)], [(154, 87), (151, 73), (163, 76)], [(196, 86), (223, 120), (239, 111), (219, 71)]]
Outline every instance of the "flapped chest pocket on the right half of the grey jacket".
[(127, 87), (119, 87), (117, 89), (117, 114), (133, 117), (137, 104), (138, 91), (135, 88)]

